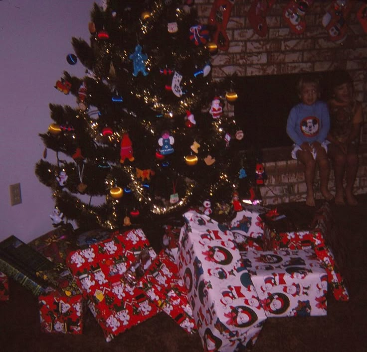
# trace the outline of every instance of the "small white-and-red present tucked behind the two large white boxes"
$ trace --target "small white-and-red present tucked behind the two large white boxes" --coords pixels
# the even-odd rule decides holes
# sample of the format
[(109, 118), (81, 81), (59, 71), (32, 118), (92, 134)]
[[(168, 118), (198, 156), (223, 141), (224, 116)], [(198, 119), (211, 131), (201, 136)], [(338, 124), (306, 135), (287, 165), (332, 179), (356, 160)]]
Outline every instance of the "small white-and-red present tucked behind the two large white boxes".
[(254, 248), (261, 250), (262, 237), (264, 234), (264, 223), (260, 215), (269, 211), (260, 205), (246, 204), (243, 210), (236, 213), (230, 223), (230, 230), (237, 243), (245, 250)]

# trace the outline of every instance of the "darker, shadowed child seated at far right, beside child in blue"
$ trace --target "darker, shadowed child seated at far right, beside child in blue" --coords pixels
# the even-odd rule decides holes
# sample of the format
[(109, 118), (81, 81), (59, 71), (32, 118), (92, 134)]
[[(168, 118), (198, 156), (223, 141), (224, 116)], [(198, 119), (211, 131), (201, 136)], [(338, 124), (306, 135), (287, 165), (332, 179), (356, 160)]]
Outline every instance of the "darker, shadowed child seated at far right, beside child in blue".
[[(358, 170), (358, 143), (361, 130), (362, 104), (355, 100), (353, 81), (346, 71), (334, 76), (333, 98), (329, 101), (331, 129), (328, 134), (329, 157), (332, 160), (335, 176), (335, 203), (357, 205), (353, 195), (353, 185)], [(346, 174), (346, 187), (343, 181)]]

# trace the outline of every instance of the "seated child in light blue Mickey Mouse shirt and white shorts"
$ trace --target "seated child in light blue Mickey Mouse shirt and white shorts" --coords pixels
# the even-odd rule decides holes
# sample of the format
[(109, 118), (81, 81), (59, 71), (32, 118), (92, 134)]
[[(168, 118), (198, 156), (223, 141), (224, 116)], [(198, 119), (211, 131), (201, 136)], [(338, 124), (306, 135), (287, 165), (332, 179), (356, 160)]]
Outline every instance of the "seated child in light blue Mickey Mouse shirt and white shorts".
[(297, 84), (301, 103), (292, 108), (287, 120), (287, 134), (293, 140), (292, 157), (305, 166), (306, 204), (315, 206), (313, 183), (316, 164), (319, 166), (320, 191), (333, 199), (328, 190), (330, 165), (326, 137), (330, 128), (327, 104), (320, 101), (320, 84), (316, 77), (303, 76)]

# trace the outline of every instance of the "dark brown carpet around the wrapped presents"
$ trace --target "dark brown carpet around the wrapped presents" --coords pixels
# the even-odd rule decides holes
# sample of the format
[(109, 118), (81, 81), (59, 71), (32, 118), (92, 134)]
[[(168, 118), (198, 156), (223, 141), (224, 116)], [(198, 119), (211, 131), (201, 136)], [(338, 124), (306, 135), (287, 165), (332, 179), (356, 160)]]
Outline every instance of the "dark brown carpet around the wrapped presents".
[[(349, 302), (338, 302), (328, 293), (325, 317), (267, 319), (252, 352), (366, 352), (367, 351), (367, 196), (358, 207), (336, 206), (339, 248), (333, 248), (347, 281)], [(310, 213), (304, 203), (279, 206)], [(302, 213), (301, 213), (302, 214)], [(339, 250), (341, 249), (341, 250)], [(0, 302), (0, 351), (202, 351), (200, 338), (189, 336), (165, 313), (138, 325), (107, 343), (88, 311), (83, 335), (39, 332), (37, 298), (10, 281), (10, 300)]]

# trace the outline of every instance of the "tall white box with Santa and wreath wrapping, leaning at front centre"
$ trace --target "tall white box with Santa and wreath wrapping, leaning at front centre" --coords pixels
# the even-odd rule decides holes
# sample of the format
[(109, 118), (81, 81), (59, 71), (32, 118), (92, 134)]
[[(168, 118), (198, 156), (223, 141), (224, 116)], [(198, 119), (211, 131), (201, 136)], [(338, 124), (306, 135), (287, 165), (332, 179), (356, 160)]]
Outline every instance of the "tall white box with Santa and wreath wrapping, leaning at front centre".
[[(266, 315), (233, 234), (194, 211), (184, 220), (177, 264), (204, 350), (251, 346)], [(252, 297), (258, 304), (246, 302)]]

